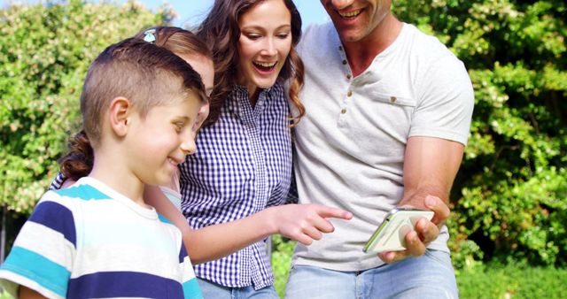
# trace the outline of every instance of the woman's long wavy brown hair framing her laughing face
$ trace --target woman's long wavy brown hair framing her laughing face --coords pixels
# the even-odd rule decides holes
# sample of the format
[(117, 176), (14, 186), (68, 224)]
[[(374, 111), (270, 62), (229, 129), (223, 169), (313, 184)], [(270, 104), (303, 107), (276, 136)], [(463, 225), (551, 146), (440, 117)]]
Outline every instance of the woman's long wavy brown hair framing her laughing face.
[[(197, 35), (213, 50), (214, 90), (206, 124), (211, 125), (221, 114), (221, 107), (229, 98), (237, 84), (238, 40), (240, 27), (238, 19), (255, 4), (264, 0), (215, 0), (211, 12), (198, 27)], [(292, 0), (282, 0), (291, 12), (291, 50), (286, 58), (278, 80), (290, 80), (289, 97), (298, 111), (292, 117), (294, 126), (305, 114), (305, 107), (299, 100), (299, 90), (303, 87), (304, 67), (295, 46), (301, 38), (301, 17)]]

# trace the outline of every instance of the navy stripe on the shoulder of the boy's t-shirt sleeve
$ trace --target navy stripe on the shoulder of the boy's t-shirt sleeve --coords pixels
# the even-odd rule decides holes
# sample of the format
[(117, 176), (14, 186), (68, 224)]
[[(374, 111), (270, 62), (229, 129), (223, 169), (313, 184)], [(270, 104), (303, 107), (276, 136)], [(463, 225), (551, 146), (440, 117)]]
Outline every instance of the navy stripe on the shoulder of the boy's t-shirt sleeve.
[(72, 242), (75, 248), (77, 247), (73, 212), (66, 206), (55, 202), (41, 202), (35, 207), (34, 213), (28, 220), (58, 231), (65, 236), (66, 240)]

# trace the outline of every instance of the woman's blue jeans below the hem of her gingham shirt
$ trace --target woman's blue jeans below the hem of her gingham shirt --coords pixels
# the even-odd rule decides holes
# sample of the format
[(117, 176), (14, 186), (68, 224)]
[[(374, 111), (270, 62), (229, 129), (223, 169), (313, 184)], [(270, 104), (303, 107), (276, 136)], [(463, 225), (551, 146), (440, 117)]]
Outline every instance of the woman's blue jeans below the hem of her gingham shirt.
[(279, 299), (274, 286), (254, 290), (253, 287), (229, 288), (218, 285), (209, 280), (198, 280), (198, 287), (201, 288), (205, 299)]

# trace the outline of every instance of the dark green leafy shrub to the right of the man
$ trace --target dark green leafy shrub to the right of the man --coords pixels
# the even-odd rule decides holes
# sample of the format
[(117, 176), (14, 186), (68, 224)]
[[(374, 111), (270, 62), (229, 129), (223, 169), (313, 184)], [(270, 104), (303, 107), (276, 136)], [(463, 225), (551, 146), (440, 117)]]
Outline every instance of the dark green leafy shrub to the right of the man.
[[(397, 1), (467, 65), (476, 105), (453, 188), (457, 265), (567, 263), (564, 1)], [(482, 249), (482, 251), (480, 251)]]

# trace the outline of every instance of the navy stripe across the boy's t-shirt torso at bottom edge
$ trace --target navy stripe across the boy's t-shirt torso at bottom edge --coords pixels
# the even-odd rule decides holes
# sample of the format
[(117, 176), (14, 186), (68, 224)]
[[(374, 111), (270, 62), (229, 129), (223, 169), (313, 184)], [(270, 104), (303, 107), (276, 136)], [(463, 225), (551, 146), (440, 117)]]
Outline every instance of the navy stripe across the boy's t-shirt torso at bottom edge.
[(175, 280), (141, 272), (97, 272), (69, 280), (67, 298), (183, 298)]

